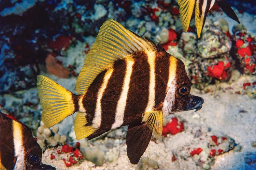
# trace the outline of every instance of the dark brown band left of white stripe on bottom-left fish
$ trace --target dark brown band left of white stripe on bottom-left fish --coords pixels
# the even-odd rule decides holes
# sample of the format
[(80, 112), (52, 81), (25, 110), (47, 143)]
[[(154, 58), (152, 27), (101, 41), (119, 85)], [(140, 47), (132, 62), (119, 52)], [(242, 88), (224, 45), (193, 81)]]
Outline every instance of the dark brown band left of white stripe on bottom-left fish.
[[(0, 113), (1, 114), (1, 113)], [(0, 128), (0, 158), (1, 163), (6, 169), (13, 169), (14, 164), (14, 144), (13, 144), (13, 126), (12, 120), (0, 115), (0, 124), (4, 128)], [(8, 146), (5, 145), (8, 143)]]

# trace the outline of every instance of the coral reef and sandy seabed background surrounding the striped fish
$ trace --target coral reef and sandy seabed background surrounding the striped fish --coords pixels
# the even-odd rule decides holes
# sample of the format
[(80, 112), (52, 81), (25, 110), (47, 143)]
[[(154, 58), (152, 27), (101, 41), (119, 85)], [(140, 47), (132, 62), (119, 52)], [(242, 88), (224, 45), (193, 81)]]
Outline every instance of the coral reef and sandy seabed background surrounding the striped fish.
[[(28, 125), (44, 149), (44, 162), (53, 166), (59, 163), (60, 169), (253, 169), (256, 161), (252, 148), (256, 145), (250, 128), (255, 127), (256, 30), (255, 15), (247, 12), (255, 14), (255, 3), (232, 3), (240, 10), (234, 11), (242, 24), (226, 19), (214, 6), (198, 39), (194, 22), (187, 33), (182, 30), (177, 0), (0, 2), (1, 112)], [(250, 9), (245, 4), (250, 4)], [(36, 75), (47, 75), (75, 92), (86, 54), (108, 18), (180, 58), (192, 89), (200, 90), (205, 105), (212, 102), (207, 108), (217, 103), (211, 110), (203, 106), (194, 114), (179, 113), (164, 119), (162, 137), (152, 138), (138, 165), (131, 165), (126, 155), (127, 127), (87, 141), (75, 139), (74, 116), (50, 129), (40, 123), (42, 107), (35, 88)], [(240, 103), (229, 103), (231, 99)], [(223, 128), (226, 124), (227, 130)], [(233, 126), (242, 133), (234, 134)], [(242, 140), (246, 137), (248, 141)], [(222, 159), (228, 160), (229, 155), (238, 155), (237, 160), (243, 160), (241, 167), (225, 167)]]

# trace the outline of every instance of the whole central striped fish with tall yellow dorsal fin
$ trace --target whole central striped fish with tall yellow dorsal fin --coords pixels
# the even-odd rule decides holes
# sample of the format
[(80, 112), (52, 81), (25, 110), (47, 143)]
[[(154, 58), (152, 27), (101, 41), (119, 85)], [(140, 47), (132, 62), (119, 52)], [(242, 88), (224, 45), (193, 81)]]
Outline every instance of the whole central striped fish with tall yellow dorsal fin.
[(190, 95), (190, 85), (181, 60), (112, 19), (103, 23), (86, 55), (76, 83), (78, 95), (43, 75), (37, 77), (45, 128), (75, 112), (77, 139), (128, 125), (132, 164), (139, 162), (152, 134), (161, 136), (163, 117), (202, 107), (203, 99)]

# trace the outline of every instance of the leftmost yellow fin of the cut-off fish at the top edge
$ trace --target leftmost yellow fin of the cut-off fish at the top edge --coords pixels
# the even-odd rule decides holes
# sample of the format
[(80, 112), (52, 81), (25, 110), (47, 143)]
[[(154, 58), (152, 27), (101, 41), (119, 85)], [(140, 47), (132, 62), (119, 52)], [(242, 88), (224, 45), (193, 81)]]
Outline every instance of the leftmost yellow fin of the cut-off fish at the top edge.
[(185, 32), (188, 30), (195, 2), (196, 0), (178, 0), (178, 5), (180, 6), (181, 25)]

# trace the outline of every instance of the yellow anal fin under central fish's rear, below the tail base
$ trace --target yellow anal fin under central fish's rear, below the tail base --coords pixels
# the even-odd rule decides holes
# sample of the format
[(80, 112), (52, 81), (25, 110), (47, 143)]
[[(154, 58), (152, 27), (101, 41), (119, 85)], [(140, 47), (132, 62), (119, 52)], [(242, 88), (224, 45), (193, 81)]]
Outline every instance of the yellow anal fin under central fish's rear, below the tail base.
[(86, 113), (83, 112), (77, 112), (75, 116), (74, 131), (76, 139), (87, 138), (97, 130), (91, 125), (86, 125), (87, 120), (85, 116)]

